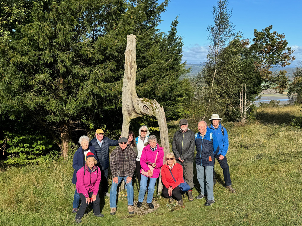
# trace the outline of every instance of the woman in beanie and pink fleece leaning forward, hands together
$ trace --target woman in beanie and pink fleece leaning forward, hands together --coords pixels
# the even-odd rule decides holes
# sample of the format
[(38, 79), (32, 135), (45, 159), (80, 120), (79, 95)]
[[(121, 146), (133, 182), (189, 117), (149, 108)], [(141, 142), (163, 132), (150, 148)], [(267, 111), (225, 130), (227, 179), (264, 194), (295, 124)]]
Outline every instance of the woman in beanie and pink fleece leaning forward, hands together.
[(98, 188), (101, 182), (101, 171), (95, 164), (98, 161), (95, 155), (88, 152), (86, 155), (85, 166), (76, 173), (76, 189), (81, 197), (81, 206), (76, 214), (76, 223), (81, 223), (82, 216), (89, 202), (93, 202), (93, 213), (96, 217), (104, 217), (100, 211), (100, 197), (98, 196)]

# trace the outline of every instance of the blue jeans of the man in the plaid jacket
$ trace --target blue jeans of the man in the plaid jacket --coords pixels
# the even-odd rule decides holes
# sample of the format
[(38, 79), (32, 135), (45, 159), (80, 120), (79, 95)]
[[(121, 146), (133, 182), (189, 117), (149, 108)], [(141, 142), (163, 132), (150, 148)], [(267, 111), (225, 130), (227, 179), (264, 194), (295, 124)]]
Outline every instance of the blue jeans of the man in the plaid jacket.
[[(118, 182), (117, 184), (115, 184), (112, 180), (112, 184), (111, 184), (111, 190), (110, 190), (110, 208), (116, 208), (116, 195), (117, 195), (117, 186), (120, 184), (120, 182), (122, 181), (122, 179), (124, 179), (125, 184), (127, 181), (127, 177), (119, 177), (118, 178)], [(131, 178), (131, 182), (129, 182), (128, 184), (126, 184), (127, 186), (127, 199), (128, 199), (128, 206), (133, 206), (133, 185), (132, 185), (132, 178)]]

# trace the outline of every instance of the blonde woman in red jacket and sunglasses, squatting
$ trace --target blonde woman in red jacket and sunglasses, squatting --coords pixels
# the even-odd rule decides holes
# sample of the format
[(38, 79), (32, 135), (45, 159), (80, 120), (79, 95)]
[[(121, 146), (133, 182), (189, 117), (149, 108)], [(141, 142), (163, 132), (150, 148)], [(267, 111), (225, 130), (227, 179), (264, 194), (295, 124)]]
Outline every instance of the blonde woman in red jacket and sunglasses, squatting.
[[(162, 183), (164, 187), (162, 189), (162, 196), (170, 199), (176, 199), (179, 206), (183, 205), (182, 194), (179, 188), (180, 183), (184, 183), (182, 166), (176, 163), (174, 154), (168, 153), (165, 157), (165, 164), (161, 168)], [(173, 174), (173, 179), (171, 173)], [(172, 199), (173, 198), (173, 199)]]

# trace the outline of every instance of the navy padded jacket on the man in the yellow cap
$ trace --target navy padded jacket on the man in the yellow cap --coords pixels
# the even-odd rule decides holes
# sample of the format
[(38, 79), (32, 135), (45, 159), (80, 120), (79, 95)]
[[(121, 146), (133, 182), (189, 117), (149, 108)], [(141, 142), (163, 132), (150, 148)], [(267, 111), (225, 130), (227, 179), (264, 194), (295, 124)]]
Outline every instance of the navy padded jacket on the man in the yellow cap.
[(96, 137), (93, 138), (89, 145), (95, 147), (95, 153), (98, 156), (99, 167), (103, 170), (109, 167), (109, 146), (117, 146), (118, 140), (110, 140), (108, 137), (103, 138), (102, 148), (99, 146)]

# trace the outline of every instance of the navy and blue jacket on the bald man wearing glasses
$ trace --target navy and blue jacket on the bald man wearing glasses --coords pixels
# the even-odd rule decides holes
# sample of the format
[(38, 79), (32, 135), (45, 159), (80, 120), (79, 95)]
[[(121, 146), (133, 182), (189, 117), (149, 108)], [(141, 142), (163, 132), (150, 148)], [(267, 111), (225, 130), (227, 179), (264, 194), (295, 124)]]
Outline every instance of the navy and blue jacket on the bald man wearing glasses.
[(219, 144), (215, 134), (210, 128), (207, 128), (204, 139), (202, 139), (200, 132), (195, 134), (195, 146), (197, 152), (195, 156), (196, 164), (201, 166), (214, 166), (214, 157), (219, 152)]

